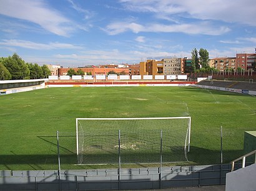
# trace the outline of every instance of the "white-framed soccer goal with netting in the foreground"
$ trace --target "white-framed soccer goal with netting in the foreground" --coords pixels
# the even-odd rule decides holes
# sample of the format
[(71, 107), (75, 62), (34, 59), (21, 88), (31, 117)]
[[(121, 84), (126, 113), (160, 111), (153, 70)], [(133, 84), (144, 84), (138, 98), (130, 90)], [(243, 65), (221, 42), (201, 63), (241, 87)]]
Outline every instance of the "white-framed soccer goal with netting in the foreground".
[(77, 164), (187, 161), (190, 117), (77, 118)]

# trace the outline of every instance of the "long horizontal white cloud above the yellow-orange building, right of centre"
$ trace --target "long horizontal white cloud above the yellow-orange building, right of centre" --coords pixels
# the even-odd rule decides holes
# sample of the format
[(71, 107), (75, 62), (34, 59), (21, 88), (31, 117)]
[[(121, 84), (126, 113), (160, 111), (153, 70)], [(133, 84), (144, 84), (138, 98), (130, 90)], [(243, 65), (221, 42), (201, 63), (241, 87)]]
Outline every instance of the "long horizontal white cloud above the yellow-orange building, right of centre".
[(205, 34), (205, 35), (221, 35), (229, 32), (229, 27), (214, 27), (209, 22), (199, 22), (194, 24), (147, 24), (142, 26), (135, 22), (112, 22), (105, 31), (109, 35), (116, 35), (122, 32), (132, 30), (134, 33), (139, 32), (183, 32), (185, 34)]

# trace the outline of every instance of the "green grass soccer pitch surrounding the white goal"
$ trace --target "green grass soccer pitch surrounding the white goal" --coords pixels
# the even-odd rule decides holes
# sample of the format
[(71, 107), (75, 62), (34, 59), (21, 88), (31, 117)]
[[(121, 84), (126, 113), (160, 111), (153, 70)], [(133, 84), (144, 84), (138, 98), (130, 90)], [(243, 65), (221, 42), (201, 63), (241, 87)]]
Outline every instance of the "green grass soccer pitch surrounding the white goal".
[(2, 170), (57, 169), (56, 131), (75, 132), (76, 118), (190, 116), (190, 164), (220, 163), (220, 126), (225, 163), (256, 131), (255, 96), (192, 87), (46, 88), (0, 96), (0, 111)]

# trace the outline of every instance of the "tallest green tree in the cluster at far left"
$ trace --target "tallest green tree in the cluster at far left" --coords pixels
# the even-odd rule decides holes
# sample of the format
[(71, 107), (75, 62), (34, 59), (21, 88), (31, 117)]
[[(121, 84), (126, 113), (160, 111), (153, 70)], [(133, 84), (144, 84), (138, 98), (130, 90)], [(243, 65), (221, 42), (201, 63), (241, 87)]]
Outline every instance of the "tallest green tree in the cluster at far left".
[(29, 79), (29, 68), (16, 53), (4, 59), (3, 64), (11, 73), (12, 80)]

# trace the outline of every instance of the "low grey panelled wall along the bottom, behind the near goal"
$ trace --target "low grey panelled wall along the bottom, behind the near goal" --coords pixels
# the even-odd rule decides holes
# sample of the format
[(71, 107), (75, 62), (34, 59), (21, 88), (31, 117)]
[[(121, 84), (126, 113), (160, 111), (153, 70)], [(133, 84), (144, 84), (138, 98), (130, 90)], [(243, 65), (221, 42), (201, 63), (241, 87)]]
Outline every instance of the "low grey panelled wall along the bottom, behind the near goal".
[(140, 169), (0, 170), (0, 190), (138, 190), (223, 185), (230, 165)]

